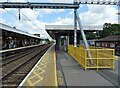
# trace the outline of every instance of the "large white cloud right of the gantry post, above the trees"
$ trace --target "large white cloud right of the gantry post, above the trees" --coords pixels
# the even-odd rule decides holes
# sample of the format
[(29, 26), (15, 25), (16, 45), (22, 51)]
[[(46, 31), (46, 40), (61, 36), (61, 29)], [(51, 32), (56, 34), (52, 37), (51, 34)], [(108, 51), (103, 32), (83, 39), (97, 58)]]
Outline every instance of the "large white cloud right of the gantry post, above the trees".
[(88, 5), (88, 11), (80, 13), (82, 24), (103, 25), (104, 23), (117, 23), (117, 9), (113, 6)]

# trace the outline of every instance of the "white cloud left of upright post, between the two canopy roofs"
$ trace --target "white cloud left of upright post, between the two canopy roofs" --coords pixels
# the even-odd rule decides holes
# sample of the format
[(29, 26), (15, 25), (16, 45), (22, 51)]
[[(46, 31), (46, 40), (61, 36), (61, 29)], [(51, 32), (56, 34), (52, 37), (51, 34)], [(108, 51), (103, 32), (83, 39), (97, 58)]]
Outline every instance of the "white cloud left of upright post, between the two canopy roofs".
[[(45, 30), (45, 25), (70, 25), (73, 24), (73, 19), (72, 18), (61, 18), (58, 17), (54, 22), (48, 23), (48, 22), (42, 22), (40, 20), (34, 20), (32, 22), (30, 21), (20, 21), (16, 23), (17, 28), (25, 30), (28, 33), (39, 33), (41, 37), (47, 37), (50, 38), (48, 33)], [(50, 38), (51, 39), (51, 38)]]

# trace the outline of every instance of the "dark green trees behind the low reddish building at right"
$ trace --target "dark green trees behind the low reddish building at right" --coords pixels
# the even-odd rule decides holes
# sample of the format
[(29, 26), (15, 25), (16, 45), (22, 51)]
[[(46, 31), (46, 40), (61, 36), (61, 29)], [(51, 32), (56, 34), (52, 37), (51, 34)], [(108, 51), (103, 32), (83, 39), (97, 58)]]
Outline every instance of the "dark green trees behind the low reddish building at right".
[[(120, 24), (105, 23), (102, 31), (96, 31), (96, 33), (86, 32), (85, 34), (87, 39), (99, 39), (106, 36), (120, 35)], [(80, 37), (82, 39), (81, 35)]]

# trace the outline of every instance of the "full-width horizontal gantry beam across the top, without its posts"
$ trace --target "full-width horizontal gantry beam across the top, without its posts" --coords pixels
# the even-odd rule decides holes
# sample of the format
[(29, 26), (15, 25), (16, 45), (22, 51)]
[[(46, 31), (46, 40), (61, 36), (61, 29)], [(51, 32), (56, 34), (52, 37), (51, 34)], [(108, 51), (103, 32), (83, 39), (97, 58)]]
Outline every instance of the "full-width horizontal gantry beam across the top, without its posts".
[(0, 2), (0, 8), (49, 8), (49, 9), (78, 9), (80, 4), (119, 5), (120, 1), (81, 1), (77, 3), (39, 3), (39, 2)]

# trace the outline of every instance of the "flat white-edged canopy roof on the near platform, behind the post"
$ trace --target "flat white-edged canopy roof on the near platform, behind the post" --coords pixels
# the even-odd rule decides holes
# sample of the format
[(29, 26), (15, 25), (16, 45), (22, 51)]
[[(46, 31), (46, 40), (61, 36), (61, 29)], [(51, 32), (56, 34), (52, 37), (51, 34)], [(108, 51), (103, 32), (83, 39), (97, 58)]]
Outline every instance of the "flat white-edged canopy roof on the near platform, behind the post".
[[(82, 27), (83, 30), (88, 32), (103, 30), (103, 26), (83, 25)], [(55, 34), (57, 33), (67, 36), (68, 34), (74, 33), (74, 25), (45, 25), (45, 30), (52, 38), (55, 38)], [(77, 27), (77, 32), (80, 33), (79, 27)]]

